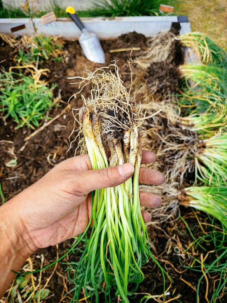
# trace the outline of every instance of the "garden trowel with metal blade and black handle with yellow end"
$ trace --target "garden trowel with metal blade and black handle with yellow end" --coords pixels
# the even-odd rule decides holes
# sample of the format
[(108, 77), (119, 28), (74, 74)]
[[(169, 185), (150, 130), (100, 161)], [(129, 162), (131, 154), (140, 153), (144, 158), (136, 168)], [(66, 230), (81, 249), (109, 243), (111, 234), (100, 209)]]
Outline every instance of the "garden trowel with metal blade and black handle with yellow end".
[(76, 23), (78, 28), (81, 30), (82, 34), (79, 38), (79, 43), (84, 52), (84, 55), (90, 61), (96, 63), (104, 63), (105, 62), (105, 54), (101, 47), (101, 44), (97, 38), (97, 36), (93, 33), (87, 31), (80, 18), (77, 16), (74, 8), (71, 6), (66, 8), (67, 14), (72, 18), (72, 20)]

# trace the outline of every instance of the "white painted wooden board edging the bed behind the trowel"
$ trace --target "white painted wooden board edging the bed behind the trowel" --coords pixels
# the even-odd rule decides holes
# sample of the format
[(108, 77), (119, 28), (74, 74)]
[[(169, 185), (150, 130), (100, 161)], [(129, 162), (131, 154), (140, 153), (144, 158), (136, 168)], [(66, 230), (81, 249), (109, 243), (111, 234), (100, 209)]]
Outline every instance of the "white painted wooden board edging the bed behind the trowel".
[[(38, 34), (45, 36), (57, 35), (67, 40), (78, 40), (80, 36), (80, 30), (69, 18), (58, 18), (51, 25), (43, 25), (41, 18), (35, 18), (34, 20), (38, 28)], [(98, 17), (81, 18), (81, 21), (89, 31), (96, 33), (100, 39), (117, 38), (121, 34), (133, 31), (146, 37), (152, 37), (160, 31), (168, 31), (172, 22), (177, 22), (177, 16)], [(23, 24), (26, 28), (13, 34), (32, 35), (34, 30), (28, 18), (0, 19), (0, 33), (12, 34), (11, 28)], [(190, 28), (190, 25), (188, 25), (188, 28)]]

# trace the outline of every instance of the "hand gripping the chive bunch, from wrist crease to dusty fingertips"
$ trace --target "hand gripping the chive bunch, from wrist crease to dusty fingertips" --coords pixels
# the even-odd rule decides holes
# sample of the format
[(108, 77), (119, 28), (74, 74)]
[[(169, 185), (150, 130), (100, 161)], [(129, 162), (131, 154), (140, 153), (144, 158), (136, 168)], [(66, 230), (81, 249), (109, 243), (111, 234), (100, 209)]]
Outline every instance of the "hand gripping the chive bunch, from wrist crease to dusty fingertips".
[[(143, 151), (142, 163), (150, 163), (156, 155)], [(43, 178), (21, 192), (17, 213), (26, 229), (31, 250), (56, 245), (82, 233), (90, 219), (90, 192), (97, 188), (119, 185), (133, 175), (134, 167), (127, 163), (119, 167), (92, 170), (88, 155), (67, 159), (51, 169)], [(159, 171), (140, 168), (139, 182), (160, 185), (164, 175)], [(18, 202), (19, 200), (19, 202)], [(140, 192), (141, 205), (157, 207), (161, 198)], [(145, 222), (151, 215), (143, 212)]]

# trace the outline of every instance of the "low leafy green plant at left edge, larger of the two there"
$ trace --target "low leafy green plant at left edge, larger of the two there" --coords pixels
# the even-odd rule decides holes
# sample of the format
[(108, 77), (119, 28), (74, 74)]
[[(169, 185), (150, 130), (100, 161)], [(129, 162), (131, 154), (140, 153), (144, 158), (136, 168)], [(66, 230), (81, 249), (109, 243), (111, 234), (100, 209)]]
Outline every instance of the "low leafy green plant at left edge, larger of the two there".
[(4, 112), (5, 119), (13, 118), (16, 128), (38, 127), (54, 105), (54, 84), (49, 88), (32, 77), (12, 72), (2, 73), (0, 84), (0, 111)]

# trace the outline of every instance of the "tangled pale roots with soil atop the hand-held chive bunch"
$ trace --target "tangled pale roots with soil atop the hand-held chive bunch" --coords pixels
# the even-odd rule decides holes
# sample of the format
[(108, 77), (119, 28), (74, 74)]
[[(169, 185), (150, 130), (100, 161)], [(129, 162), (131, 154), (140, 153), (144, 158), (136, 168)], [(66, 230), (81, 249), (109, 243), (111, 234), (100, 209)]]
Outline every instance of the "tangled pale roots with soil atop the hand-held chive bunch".
[[(85, 86), (90, 85), (90, 97), (85, 99), (81, 95), (83, 106), (90, 115), (98, 115), (100, 132), (104, 140), (120, 140), (122, 138), (120, 136), (123, 136), (125, 131), (142, 125), (144, 115), (136, 104), (135, 95), (130, 96), (130, 91), (127, 92), (124, 87), (116, 64), (96, 68), (94, 72), (86, 70), (83, 77), (70, 79), (78, 79), (78, 82), (73, 83), (78, 85), (78, 92), (74, 97), (80, 94)], [(81, 131), (82, 125), (76, 116), (76, 111), (76, 109), (73, 110), (74, 118), (80, 125)], [(81, 132), (79, 137), (79, 144), (82, 146), (82, 150), (85, 150)]]

